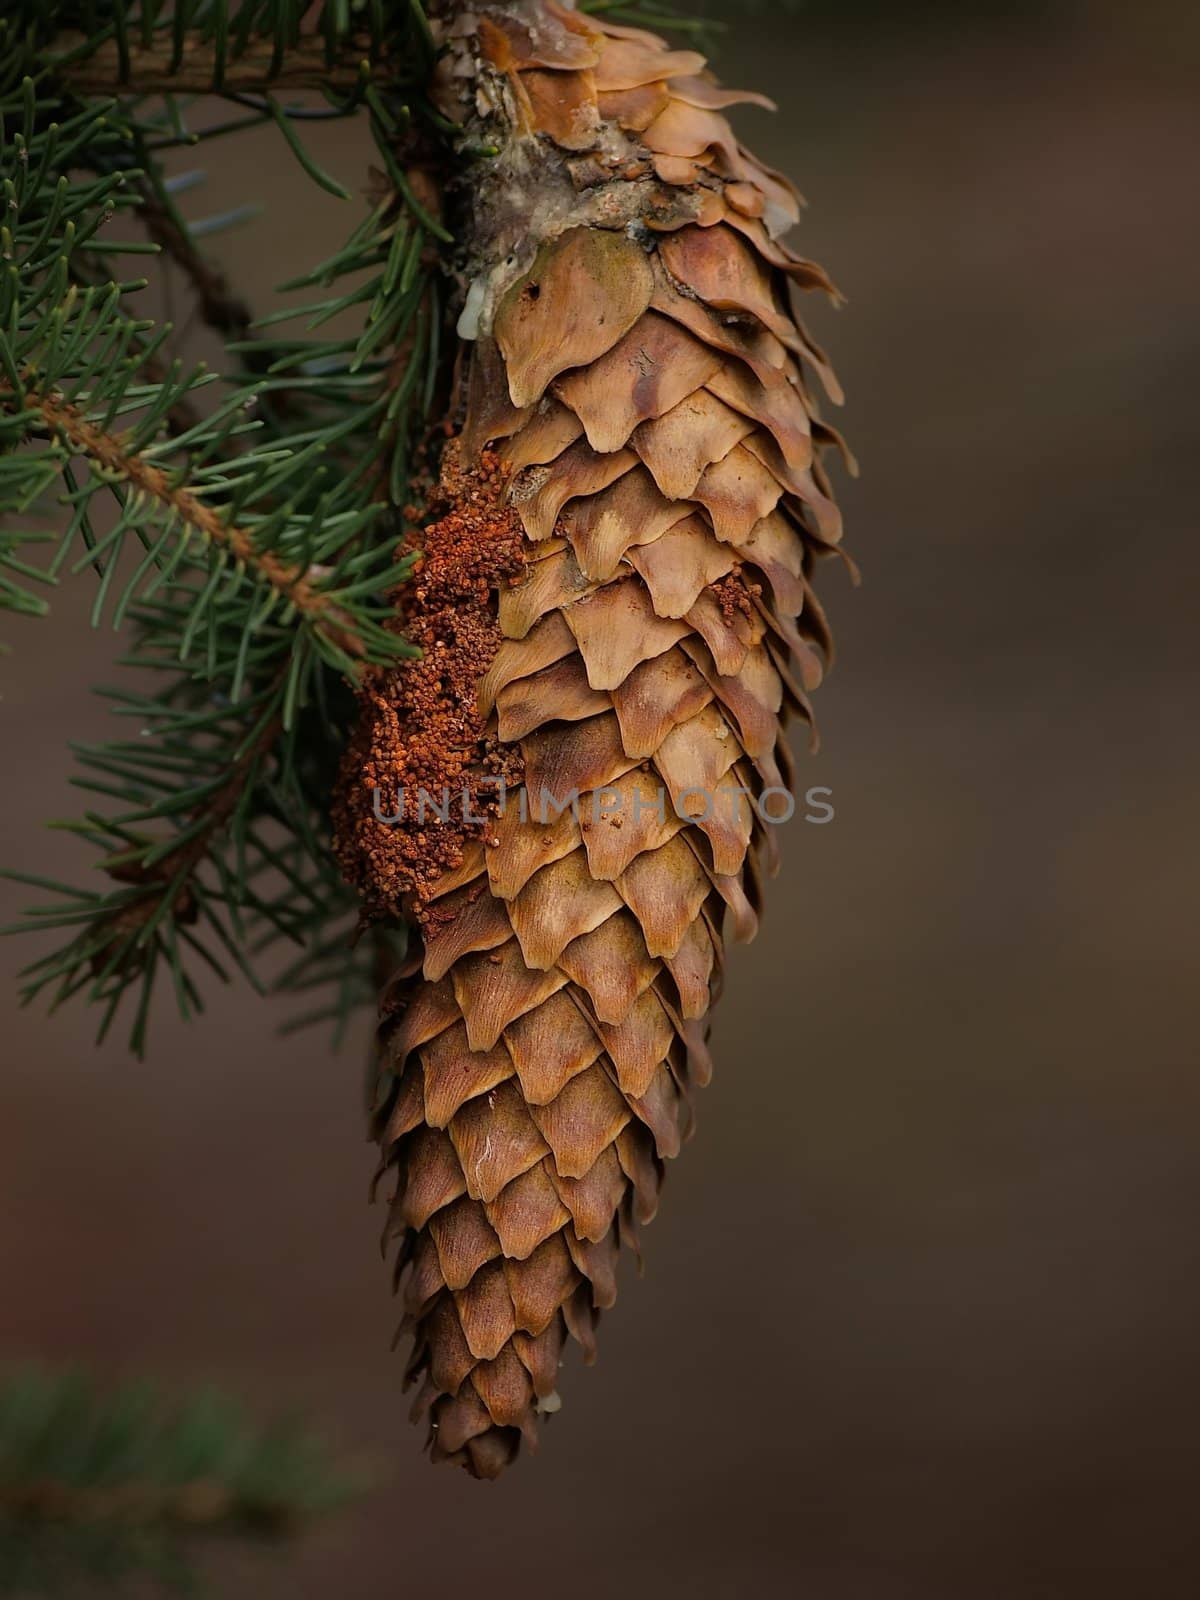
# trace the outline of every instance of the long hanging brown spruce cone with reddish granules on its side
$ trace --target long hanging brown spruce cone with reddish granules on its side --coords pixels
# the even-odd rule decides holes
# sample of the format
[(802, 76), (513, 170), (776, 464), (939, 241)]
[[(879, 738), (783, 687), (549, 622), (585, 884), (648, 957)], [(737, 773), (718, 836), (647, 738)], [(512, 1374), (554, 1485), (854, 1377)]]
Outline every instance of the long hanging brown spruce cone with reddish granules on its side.
[[(790, 310), (789, 280), (834, 293), (779, 243), (797, 195), (722, 115), (762, 96), (549, 0), (451, 34), (442, 102), (501, 152), (470, 174), (466, 414), (402, 600), (426, 654), (365, 694), (338, 848), (421, 928), (379, 1029), (386, 1237), (434, 1458), (494, 1477), (566, 1339), (592, 1360), (709, 1078), (723, 928), (755, 931), (782, 723), (829, 656), (811, 374), (838, 392)], [(453, 816), (418, 826), (418, 784)]]

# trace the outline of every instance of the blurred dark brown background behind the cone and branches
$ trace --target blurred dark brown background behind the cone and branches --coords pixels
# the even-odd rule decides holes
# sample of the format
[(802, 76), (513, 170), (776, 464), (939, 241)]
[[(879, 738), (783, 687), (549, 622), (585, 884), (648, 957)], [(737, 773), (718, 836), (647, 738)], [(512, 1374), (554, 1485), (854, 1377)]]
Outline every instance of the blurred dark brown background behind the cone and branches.
[[(741, 126), (850, 296), (813, 320), (866, 584), (827, 571), (802, 766), (837, 821), (790, 829), (648, 1274), (541, 1454), (478, 1485), (408, 1429), (360, 1042), (238, 990), (138, 1066), (18, 1011), (0, 946), (0, 1357), (218, 1378), (387, 1466), (294, 1558), (213, 1562), (229, 1600), (1200, 1589), (1197, 24), (840, 11), (746, 8), (720, 61), (779, 99)], [(357, 133), (317, 147), (362, 184)], [(347, 226), (272, 133), (205, 165), (190, 214), (267, 202), (213, 242), (258, 306)], [(88, 602), (10, 629), (29, 870), (104, 720)]]

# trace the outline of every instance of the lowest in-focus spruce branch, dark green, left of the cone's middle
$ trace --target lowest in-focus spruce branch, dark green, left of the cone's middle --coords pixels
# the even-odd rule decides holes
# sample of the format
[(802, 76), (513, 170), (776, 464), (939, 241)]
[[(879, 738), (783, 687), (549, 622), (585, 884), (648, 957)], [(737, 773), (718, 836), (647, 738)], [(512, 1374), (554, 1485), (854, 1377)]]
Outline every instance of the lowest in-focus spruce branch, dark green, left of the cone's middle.
[[(130, 662), (146, 667), (154, 632), (141, 621), (146, 637)], [(5, 874), (54, 898), (3, 931), (67, 936), (21, 974), (26, 1003), (48, 994), (53, 1010), (86, 992), (102, 1006), (104, 1035), (136, 992), (130, 1043), (142, 1054), (160, 973), (189, 1018), (203, 1011), (197, 963), (222, 982), (235, 970), (264, 992), (248, 958), (254, 941), (261, 949), (280, 936), (302, 949), (314, 925), (328, 933), (341, 906), (328, 893), (328, 867), (314, 874), (307, 864), (320, 851), (322, 781), (304, 763), (322, 752), (302, 723), (302, 747), (299, 726), (282, 738), (291, 691), (291, 670), (286, 682), (251, 683), (234, 706), (194, 675), (171, 677), (155, 696), (102, 691), (118, 715), (138, 720), (136, 736), (77, 747), (75, 784), (120, 810), (88, 810), (58, 826), (99, 851), (114, 886), (88, 891)]]

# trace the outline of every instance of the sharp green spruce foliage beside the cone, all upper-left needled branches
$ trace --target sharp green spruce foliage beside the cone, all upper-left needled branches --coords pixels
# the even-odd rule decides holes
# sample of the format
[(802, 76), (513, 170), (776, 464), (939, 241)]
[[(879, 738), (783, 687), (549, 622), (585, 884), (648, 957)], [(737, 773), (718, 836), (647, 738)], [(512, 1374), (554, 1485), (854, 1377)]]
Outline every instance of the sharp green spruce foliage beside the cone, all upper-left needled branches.
[[(126, 1002), (138, 1053), (155, 990), (190, 1016), (203, 971), (259, 982), (277, 941), (296, 952), (277, 986), (320, 990), (309, 1014), (339, 1022), (382, 954), (350, 938), (328, 813), (349, 685), (411, 653), (389, 624), (410, 570), (400, 509), (438, 398), (448, 234), (410, 166), (445, 125), (422, 93), (416, 0), (328, 3), (315, 34), (302, 14), (290, 0), (0, 0), (0, 610), (42, 614), (91, 573), (93, 624), (126, 634), (138, 683), (102, 691), (125, 731), (77, 752), (88, 810), (54, 824), (98, 851), (102, 886), (10, 874), (51, 896), (18, 928), (61, 941), (22, 994), (83, 994), (101, 1032)], [(288, 94), (298, 59), (328, 72), (320, 106)], [(101, 72), (117, 98), (93, 96)], [(272, 72), (270, 93), (238, 86)], [(219, 88), (229, 117), (197, 131), (176, 80)], [(349, 200), (302, 128), (350, 114), (378, 152), (366, 214), (286, 285), (317, 298), (254, 326), (198, 243), (237, 218), (189, 229), (174, 192), (194, 179), (168, 179), (163, 152), (274, 123)], [(112, 275), (163, 253), (224, 341), (219, 373), (181, 365), (171, 325), (139, 315), (146, 280)], [(339, 312), (349, 333), (328, 331)]]

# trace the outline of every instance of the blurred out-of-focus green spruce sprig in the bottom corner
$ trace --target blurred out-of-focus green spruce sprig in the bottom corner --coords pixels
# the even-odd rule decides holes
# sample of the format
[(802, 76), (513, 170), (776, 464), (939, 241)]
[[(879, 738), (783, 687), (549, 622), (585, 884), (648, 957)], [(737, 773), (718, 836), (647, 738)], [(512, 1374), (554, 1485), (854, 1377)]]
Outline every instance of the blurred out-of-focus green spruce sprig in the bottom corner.
[(168, 1402), (80, 1371), (0, 1379), (0, 1594), (150, 1574), (190, 1581), (198, 1534), (280, 1538), (363, 1488), (294, 1421), (213, 1390)]

